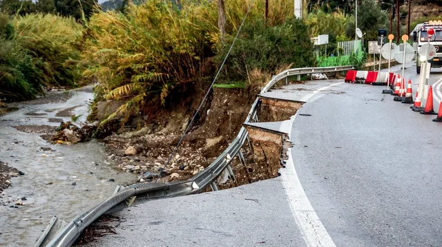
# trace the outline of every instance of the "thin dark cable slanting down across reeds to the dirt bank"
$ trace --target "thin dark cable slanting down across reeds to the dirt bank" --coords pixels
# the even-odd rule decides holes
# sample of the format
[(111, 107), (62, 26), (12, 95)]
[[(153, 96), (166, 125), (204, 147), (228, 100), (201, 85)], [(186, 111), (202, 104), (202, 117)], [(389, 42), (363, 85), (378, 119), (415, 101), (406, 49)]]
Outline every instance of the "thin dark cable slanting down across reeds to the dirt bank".
[[(191, 126), (192, 126), (192, 124), (193, 124), (193, 121), (195, 120), (196, 116), (197, 116), (198, 113), (200, 112), (200, 109), (201, 109), (202, 105), (204, 105), (204, 102), (206, 101), (207, 96), (209, 96), (210, 91), (211, 91), (211, 89), (212, 89), (212, 87), (213, 87), (213, 84), (215, 84), (216, 79), (217, 79), (218, 76), (220, 75), (220, 72), (221, 72), (222, 67), (224, 67), (224, 64), (225, 64), (226, 61), (227, 61), (227, 57), (229, 57), (229, 54), (230, 54), (230, 52), (231, 52), (231, 50), (232, 50), (232, 48), (233, 48), (233, 45), (235, 45), (236, 39), (238, 39), (238, 35), (239, 35), (240, 32), (241, 32), (242, 25), (244, 25), (244, 22), (245, 22), (246, 19), (247, 19), (247, 15), (249, 15), (249, 12), (250, 12), (250, 10), (251, 10), (251, 6), (253, 6), (253, 1), (255, 1), (255, 0), (251, 0), (251, 2), (250, 2), (250, 6), (249, 6), (249, 9), (247, 9), (246, 15), (244, 16), (244, 19), (242, 19), (242, 22), (241, 22), (240, 28), (238, 28), (238, 32), (236, 32), (235, 39), (233, 39), (233, 42), (232, 42), (232, 44), (230, 45), (229, 52), (227, 52), (226, 56), (224, 57), (224, 61), (222, 61), (222, 64), (221, 64), (220, 68), (218, 69), (218, 72), (216, 73), (215, 78), (213, 78), (213, 81), (212, 81), (212, 83), (211, 83), (209, 89), (207, 89), (206, 95), (204, 95), (204, 98), (202, 99), (202, 101), (201, 101), (201, 103), (200, 103), (200, 106), (199, 106), (198, 109), (195, 111), (195, 114), (193, 114), (193, 117), (192, 117), (192, 119), (191, 119), (191, 122), (189, 122), (189, 125), (187, 125), (186, 130), (185, 130), (184, 133), (182, 134), (180, 140), (178, 141), (177, 145), (176, 145), (175, 148), (173, 149), (172, 153), (169, 155), (169, 158), (167, 158), (167, 162), (166, 162), (166, 164), (164, 164), (163, 169), (165, 169), (165, 168), (169, 165), (169, 162), (171, 162), (171, 159), (173, 158), (173, 155), (175, 155), (175, 153), (176, 153), (178, 147), (180, 147), (180, 144), (181, 144), (182, 140), (184, 139), (184, 136), (186, 136), (186, 133), (189, 131), (189, 129), (191, 128)], [(159, 178), (157, 178), (157, 180), (158, 180), (158, 179), (159, 179)]]

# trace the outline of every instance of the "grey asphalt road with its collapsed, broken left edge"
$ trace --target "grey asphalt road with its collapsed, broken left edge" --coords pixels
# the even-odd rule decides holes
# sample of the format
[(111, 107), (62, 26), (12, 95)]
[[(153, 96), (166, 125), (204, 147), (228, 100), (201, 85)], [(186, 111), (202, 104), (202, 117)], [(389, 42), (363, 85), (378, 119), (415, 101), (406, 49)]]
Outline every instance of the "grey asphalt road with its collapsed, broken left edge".
[(281, 177), (130, 208), (90, 246), (442, 246), (442, 124), (384, 87), (340, 82), (269, 92), (307, 101), (276, 125), (294, 143)]

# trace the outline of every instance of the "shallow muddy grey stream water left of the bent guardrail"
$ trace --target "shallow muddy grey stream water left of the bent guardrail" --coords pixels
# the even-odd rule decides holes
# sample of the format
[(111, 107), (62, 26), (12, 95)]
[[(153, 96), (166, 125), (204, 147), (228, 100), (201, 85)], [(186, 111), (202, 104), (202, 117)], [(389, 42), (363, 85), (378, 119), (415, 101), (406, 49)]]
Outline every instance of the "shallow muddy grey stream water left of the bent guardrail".
[[(93, 97), (90, 89), (73, 92), (66, 100), (67, 96), (57, 92), (52, 99), (17, 105), (18, 111), (0, 117), (0, 160), (25, 173), (12, 178), (12, 186), (1, 194), (0, 246), (33, 246), (53, 215), (68, 222), (109, 197), (117, 184), (135, 180), (135, 175), (113, 169), (96, 140), (55, 145), (43, 140), (41, 133), (14, 128), (57, 127), (53, 118), (67, 121), (70, 114), (83, 114), (78, 122), (86, 120), (87, 103)], [(39, 127), (26, 129), (42, 132)], [(23, 205), (10, 207), (18, 197), (26, 197)]]

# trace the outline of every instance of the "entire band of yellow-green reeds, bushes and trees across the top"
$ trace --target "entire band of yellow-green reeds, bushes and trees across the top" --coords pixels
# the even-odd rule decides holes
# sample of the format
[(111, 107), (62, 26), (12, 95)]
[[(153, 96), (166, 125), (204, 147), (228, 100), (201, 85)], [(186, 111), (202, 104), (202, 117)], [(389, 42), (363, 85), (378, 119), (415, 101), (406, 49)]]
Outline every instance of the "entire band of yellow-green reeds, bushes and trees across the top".
[[(122, 100), (126, 116), (191, 98), (183, 92), (209, 86), (251, 3), (219, 1), (111, 0), (101, 10), (95, 0), (1, 0), (0, 97), (25, 100), (43, 87), (94, 80), (95, 102)], [(394, 2), (359, 1), (365, 41), (388, 27)], [(287, 66), (314, 66), (312, 36), (329, 34), (326, 54), (354, 39), (354, 1), (305, 6), (299, 20), (293, 1), (269, 1), (265, 19), (265, 0), (255, 0), (217, 87), (260, 86)]]

